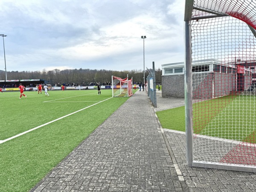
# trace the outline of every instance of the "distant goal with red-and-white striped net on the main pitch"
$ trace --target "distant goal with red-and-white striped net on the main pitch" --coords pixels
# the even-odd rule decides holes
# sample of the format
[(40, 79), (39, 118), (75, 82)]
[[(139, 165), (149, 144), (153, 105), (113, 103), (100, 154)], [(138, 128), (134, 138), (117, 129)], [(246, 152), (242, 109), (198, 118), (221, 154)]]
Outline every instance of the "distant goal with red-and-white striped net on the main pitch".
[(112, 76), (112, 96), (113, 97), (129, 97), (132, 96), (132, 79), (122, 79)]

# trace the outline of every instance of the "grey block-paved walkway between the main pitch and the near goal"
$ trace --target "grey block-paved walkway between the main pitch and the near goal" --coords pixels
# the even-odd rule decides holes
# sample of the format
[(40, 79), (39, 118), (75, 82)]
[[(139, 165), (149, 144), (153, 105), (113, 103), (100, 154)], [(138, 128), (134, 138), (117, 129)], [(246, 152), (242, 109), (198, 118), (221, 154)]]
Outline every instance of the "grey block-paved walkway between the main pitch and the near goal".
[(184, 99), (160, 92), (154, 109), (137, 91), (32, 191), (256, 191), (255, 173), (186, 166), (185, 134), (161, 128), (155, 115)]

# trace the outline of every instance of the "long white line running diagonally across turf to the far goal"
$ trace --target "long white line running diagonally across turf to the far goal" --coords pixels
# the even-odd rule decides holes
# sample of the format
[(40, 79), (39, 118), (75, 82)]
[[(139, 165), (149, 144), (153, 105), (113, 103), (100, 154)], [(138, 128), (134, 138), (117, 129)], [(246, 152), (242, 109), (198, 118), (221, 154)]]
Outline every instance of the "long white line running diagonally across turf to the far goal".
[[(111, 99), (111, 98), (113, 98), (113, 97), (110, 97), (110, 98), (108, 98), (108, 99)], [(63, 118), (65, 118), (65, 117), (67, 117), (67, 116), (70, 116), (70, 115), (73, 115), (73, 114), (78, 113), (78, 112), (80, 112), (80, 111), (83, 111), (84, 109), (90, 108), (90, 107), (92, 107), (92, 106), (94, 106), (94, 105), (97, 105), (97, 104), (99, 104), (99, 103), (101, 103), (101, 102), (105, 102), (105, 101), (107, 101), (108, 99), (105, 99), (105, 100), (103, 100), (103, 101), (100, 101), (100, 102), (98, 102), (98, 103), (95, 103), (95, 104), (93, 104), (93, 105), (90, 105), (90, 106), (88, 106), (88, 107), (86, 107), (86, 108), (83, 108), (83, 109), (80, 109), (80, 110), (75, 111), (75, 112), (73, 112), (73, 113), (70, 113), (70, 114), (67, 114), (67, 115), (65, 115), (65, 116), (62, 116), (62, 117), (60, 117), (60, 118), (58, 118), (58, 119), (54, 119), (54, 120), (52, 120), (52, 121), (50, 121), (50, 122), (47, 122), (47, 123), (45, 123), (45, 124), (43, 124), (43, 125), (39, 125), (38, 127), (29, 129), (28, 131), (24, 131), (23, 133), (17, 134), (17, 135), (15, 135), (15, 136), (13, 136), (13, 137), (10, 137), (10, 138), (6, 139), (6, 140), (0, 140), (0, 144), (1, 144), (1, 143), (5, 143), (6, 141), (12, 140), (12, 139), (14, 139), (14, 138), (16, 138), (16, 137), (20, 137), (21, 135), (24, 135), (24, 134), (26, 134), (26, 133), (29, 133), (29, 132), (31, 132), (31, 131), (34, 131), (34, 130), (36, 130), (36, 129), (38, 129), (38, 128), (44, 127), (45, 125), (49, 125), (50, 123), (55, 122), (55, 121), (58, 121), (58, 120), (60, 120), (60, 119), (63, 119)]]

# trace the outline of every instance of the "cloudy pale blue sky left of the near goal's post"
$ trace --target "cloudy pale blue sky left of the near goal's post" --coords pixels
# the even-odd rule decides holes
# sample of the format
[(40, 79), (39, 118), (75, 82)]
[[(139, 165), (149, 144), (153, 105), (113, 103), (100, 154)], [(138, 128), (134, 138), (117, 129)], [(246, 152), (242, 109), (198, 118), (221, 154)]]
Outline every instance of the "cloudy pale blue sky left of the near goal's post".
[(184, 5), (185, 0), (1, 0), (6, 70), (143, 70), (142, 35), (145, 67), (184, 61)]

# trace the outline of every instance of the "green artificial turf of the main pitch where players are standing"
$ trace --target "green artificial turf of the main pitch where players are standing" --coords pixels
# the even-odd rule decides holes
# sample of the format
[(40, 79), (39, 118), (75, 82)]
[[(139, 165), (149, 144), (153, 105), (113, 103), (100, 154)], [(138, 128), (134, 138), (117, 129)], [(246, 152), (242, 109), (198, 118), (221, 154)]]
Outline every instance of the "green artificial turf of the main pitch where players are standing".
[[(0, 140), (111, 98), (111, 90), (49, 91), (0, 94)], [(87, 95), (89, 94), (89, 95)], [(5, 143), (0, 143), (0, 191), (25, 192), (32, 189), (79, 143), (128, 98), (111, 98)], [(51, 101), (50, 101), (51, 100)], [(45, 102), (50, 101), (50, 102)]]

